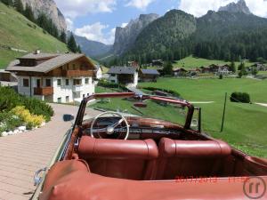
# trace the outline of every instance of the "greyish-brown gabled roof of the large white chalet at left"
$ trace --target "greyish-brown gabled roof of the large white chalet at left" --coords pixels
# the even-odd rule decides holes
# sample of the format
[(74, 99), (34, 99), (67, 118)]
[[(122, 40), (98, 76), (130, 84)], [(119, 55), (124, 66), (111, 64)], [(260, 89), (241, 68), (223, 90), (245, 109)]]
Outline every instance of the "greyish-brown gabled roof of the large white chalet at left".
[(36, 65), (34, 67), (25, 67), (20, 66), (20, 60), (14, 60), (12, 61), (9, 66), (6, 68), (7, 71), (28, 71), (28, 72), (40, 72), (40, 73), (47, 73), (49, 71), (52, 71), (54, 68), (58, 68), (62, 65), (67, 64), (70, 61), (77, 60), (79, 58), (85, 57), (92, 66), (93, 63), (91, 60), (89, 60), (85, 54), (74, 54), (74, 53), (29, 53), (26, 56), (23, 56), (19, 59), (44, 59), (44, 58), (51, 58), (49, 60), (45, 60), (39, 65)]

